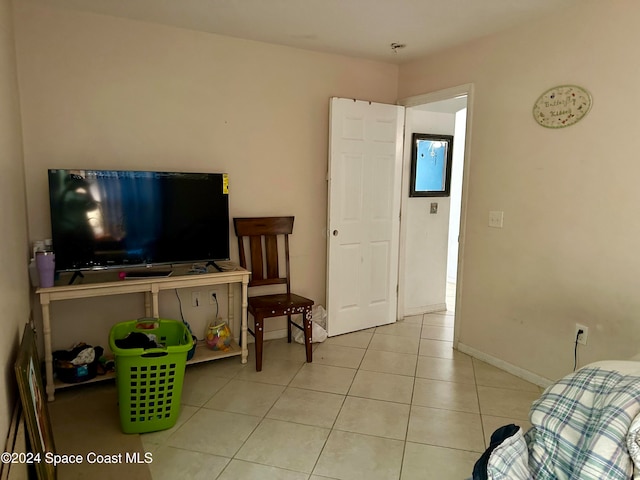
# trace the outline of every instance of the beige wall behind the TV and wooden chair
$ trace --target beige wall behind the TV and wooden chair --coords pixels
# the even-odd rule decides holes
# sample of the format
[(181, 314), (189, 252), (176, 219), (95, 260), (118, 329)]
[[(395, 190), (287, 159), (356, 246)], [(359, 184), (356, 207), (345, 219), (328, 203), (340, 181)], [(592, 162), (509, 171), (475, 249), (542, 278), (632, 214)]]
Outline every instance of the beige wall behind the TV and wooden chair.
[[(329, 99), (394, 103), (396, 65), (29, 2), (16, 5), (16, 40), (31, 240), (50, 235), (47, 168), (227, 172), (232, 216), (295, 215), (293, 287), (324, 304)], [(175, 295), (161, 302), (179, 316)], [(141, 303), (54, 305), (71, 319), (55, 321), (54, 348), (104, 345)]]

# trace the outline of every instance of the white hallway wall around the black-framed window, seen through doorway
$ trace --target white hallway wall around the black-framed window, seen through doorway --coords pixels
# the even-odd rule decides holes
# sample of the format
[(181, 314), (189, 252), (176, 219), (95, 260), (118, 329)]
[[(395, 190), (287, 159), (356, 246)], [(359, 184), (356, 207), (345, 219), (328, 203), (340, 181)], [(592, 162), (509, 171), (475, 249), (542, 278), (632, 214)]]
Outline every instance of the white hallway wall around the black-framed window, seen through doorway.
[[(409, 197), (413, 133), (453, 135), (455, 115), (409, 107), (406, 113), (402, 229), (403, 313), (446, 308), (447, 243), (451, 197)], [(431, 214), (432, 203), (438, 213)]]

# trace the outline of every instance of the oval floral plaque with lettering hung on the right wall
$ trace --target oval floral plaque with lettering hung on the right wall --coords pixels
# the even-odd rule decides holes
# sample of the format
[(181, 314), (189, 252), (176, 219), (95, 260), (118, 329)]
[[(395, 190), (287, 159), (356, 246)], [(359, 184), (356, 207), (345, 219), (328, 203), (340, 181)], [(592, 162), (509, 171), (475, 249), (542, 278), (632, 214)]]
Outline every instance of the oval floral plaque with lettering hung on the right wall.
[(591, 109), (591, 94), (576, 85), (544, 92), (533, 106), (533, 118), (543, 127), (563, 128), (581, 120)]

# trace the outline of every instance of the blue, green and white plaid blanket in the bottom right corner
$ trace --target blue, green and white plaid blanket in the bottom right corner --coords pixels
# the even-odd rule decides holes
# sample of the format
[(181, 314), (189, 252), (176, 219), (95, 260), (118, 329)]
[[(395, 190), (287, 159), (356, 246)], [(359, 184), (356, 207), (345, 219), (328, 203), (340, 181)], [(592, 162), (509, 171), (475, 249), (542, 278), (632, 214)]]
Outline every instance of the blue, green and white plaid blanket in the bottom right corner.
[[(640, 377), (585, 367), (548, 387), (529, 414), (528, 452), (501, 449), (489, 461), (489, 478), (629, 480), (634, 462), (627, 437), (640, 414)], [(634, 428), (640, 429), (635, 422)], [(527, 459), (528, 455), (528, 459)], [(495, 458), (494, 458), (495, 457)], [(527, 462), (529, 472), (510, 476)], [(515, 472), (514, 472), (515, 473)]]

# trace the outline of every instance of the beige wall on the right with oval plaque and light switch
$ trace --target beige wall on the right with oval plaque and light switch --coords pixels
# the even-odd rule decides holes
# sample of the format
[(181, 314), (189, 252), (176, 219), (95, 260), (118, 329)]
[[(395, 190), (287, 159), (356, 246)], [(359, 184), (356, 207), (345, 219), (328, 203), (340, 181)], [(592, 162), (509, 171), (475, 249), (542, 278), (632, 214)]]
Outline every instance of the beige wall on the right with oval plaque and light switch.
[[(634, 0), (585, 1), (400, 68), (401, 98), (474, 84), (459, 342), (543, 378), (573, 368), (576, 322), (580, 364), (640, 351), (639, 18)], [(535, 100), (567, 83), (591, 112), (540, 127)]]

